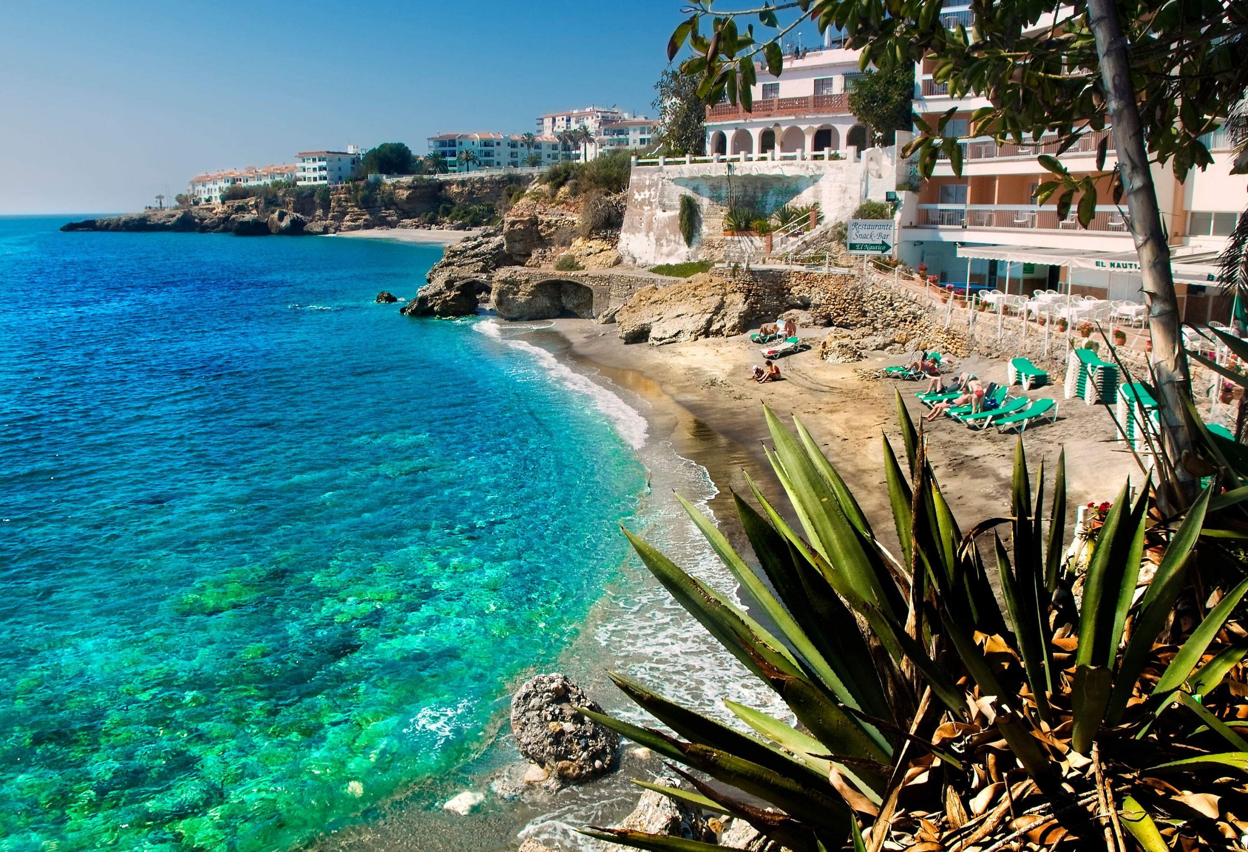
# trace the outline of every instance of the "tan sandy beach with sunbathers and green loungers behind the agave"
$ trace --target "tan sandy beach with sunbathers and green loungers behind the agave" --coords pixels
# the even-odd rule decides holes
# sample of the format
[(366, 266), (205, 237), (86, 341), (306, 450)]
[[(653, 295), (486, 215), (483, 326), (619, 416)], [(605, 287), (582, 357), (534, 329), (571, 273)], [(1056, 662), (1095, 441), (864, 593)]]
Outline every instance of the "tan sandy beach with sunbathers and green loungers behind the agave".
[[(769, 440), (763, 404), (785, 419), (797, 417), (825, 448), (881, 535), (891, 534), (880, 435), (887, 434), (895, 452), (901, 454), (897, 390), (916, 422), (927, 409), (915, 399), (915, 393), (922, 389), (919, 383), (866, 379), (860, 370), (879, 369), (901, 358), (877, 353), (856, 364), (832, 364), (809, 349), (778, 362), (781, 382), (760, 385), (750, 380), (750, 369), (763, 358), (746, 336), (650, 347), (626, 346), (614, 326), (584, 319), (557, 319), (552, 331), (568, 341), (573, 359), (598, 367), (623, 387), (653, 385), (688, 410), (704, 429), (743, 448), (751, 460), (745, 468), (725, 468), (718, 459), (709, 459), (708, 464), (698, 458), (696, 448), (689, 448), (691, 458), (713, 472), (721, 491), (746, 488), (743, 469), (750, 469), (751, 475), (761, 470), (764, 482), (775, 488), (763, 454), (763, 442)], [(972, 356), (953, 363), (953, 370), (972, 372), (985, 382), (1006, 382), (1003, 361)], [(1043, 459), (1052, 472), (1065, 448), (1068, 505), (1112, 500), (1123, 480), (1127, 477), (1138, 480), (1141, 472), (1131, 453), (1113, 440), (1113, 423), (1103, 407), (1063, 399), (1062, 378), (1051, 375), (1047, 387), (1028, 392), (1032, 398), (1058, 400), (1056, 423), (1040, 424), (1025, 433), (1031, 467), (1035, 470)], [(1000, 515), (1008, 501), (1016, 435), (998, 434), (996, 429), (972, 430), (948, 419), (925, 428), (936, 475), (963, 528)], [(721, 511), (716, 515), (725, 516)]]

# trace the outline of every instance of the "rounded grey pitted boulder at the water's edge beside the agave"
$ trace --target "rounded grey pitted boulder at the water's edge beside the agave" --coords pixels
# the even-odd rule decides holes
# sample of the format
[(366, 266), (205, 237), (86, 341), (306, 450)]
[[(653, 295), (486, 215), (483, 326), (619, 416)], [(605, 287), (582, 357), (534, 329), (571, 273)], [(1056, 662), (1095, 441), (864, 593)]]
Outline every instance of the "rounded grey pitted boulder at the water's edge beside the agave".
[(520, 753), (553, 780), (578, 782), (608, 772), (620, 737), (575, 709), (602, 712), (598, 702), (567, 675), (538, 675), (512, 697), (512, 733)]

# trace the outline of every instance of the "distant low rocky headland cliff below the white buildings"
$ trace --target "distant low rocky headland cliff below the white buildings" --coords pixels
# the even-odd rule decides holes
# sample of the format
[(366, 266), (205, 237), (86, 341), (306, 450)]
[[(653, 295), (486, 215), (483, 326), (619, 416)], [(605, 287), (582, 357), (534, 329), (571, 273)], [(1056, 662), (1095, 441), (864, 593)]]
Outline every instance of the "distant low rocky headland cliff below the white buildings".
[(70, 222), (61, 230), (298, 236), (364, 228), (464, 228), (472, 222), (497, 217), (528, 183), (527, 177), (502, 175), (293, 187), (220, 205)]

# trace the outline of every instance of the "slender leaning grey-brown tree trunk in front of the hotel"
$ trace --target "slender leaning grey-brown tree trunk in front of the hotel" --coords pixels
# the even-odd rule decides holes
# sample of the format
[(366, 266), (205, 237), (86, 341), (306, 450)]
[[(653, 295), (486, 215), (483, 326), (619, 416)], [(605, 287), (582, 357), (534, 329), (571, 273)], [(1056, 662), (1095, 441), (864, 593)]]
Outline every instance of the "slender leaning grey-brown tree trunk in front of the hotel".
[(1101, 59), (1101, 80), (1118, 150), (1131, 235), (1136, 241), (1148, 302), (1148, 329), (1153, 338), (1151, 361), (1157, 374), (1157, 403), (1163, 419), (1162, 440), (1173, 463), (1173, 473), (1158, 465), (1162, 480), (1158, 488), (1159, 508), (1164, 515), (1173, 515), (1196, 498), (1197, 479), (1186, 464), (1193, 457), (1194, 424), (1187, 407), (1192, 399), (1192, 377), (1183, 348), (1169, 246), (1157, 207), (1157, 190), (1148, 168), (1127, 42), (1118, 22), (1114, 0), (1088, 0), (1088, 26), (1096, 37)]

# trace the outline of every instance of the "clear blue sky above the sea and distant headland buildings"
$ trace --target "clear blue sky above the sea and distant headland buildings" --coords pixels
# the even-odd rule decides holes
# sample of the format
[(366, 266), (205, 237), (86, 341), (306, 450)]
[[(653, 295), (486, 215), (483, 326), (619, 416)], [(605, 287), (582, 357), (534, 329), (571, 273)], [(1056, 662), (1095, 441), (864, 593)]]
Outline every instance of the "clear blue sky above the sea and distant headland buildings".
[(6, 0), (0, 213), (115, 212), (202, 171), (653, 115), (681, 0)]

